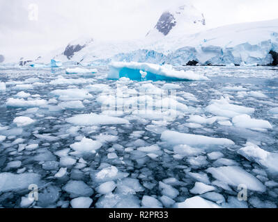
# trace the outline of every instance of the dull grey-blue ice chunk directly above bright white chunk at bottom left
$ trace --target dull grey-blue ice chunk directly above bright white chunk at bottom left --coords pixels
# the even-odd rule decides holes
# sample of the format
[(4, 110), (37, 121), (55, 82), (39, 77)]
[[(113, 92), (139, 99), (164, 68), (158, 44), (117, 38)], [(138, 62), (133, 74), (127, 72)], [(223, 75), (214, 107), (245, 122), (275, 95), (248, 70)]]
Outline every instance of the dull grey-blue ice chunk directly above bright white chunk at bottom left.
[(79, 196), (92, 196), (93, 189), (86, 185), (85, 182), (81, 180), (70, 180), (64, 187), (63, 190), (70, 194), (71, 198)]

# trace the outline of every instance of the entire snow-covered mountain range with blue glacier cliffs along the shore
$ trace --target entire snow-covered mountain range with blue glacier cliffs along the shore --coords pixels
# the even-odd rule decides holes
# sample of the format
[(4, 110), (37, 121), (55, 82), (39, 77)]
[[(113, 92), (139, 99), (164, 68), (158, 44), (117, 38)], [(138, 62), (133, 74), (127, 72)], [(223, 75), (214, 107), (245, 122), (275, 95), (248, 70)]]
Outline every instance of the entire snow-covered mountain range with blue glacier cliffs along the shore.
[[(107, 64), (111, 61), (167, 62), (171, 65), (277, 65), (278, 19), (206, 29), (192, 5), (165, 11), (146, 37), (102, 41), (92, 37), (65, 44), (36, 62)], [(28, 63), (29, 64), (29, 63)]]

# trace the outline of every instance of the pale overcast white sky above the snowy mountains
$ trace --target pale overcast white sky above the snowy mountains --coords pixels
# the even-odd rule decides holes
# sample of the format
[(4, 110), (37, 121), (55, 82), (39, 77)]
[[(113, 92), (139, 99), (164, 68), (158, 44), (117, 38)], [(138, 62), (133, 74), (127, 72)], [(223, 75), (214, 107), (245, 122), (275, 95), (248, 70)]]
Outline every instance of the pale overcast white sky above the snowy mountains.
[[(188, 0), (0, 0), (0, 55), (32, 58), (79, 37), (142, 38)], [(208, 28), (278, 19), (277, 0), (190, 0)]]

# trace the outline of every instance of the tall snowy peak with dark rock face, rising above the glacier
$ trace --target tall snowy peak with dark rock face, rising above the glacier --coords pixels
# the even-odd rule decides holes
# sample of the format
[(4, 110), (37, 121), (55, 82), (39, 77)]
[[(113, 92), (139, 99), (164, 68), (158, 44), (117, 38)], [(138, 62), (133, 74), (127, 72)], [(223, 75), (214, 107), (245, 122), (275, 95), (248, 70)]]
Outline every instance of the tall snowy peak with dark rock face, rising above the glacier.
[(164, 36), (180, 36), (202, 31), (206, 28), (206, 19), (199, 10), (190, 3), (162, 13), (155, 28), (146, 37), (154, 39)]

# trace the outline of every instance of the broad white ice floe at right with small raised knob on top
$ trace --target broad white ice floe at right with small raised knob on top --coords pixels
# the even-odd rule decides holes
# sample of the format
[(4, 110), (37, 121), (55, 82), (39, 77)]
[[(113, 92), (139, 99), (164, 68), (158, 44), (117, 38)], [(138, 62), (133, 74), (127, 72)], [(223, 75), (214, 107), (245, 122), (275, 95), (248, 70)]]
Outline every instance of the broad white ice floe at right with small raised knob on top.
[(220, 117), (235, 117), (240, 114), (252, 114), (255, 109), (229, 103), (229, 98), (213, 100), (206, 107), (206, 111)]

